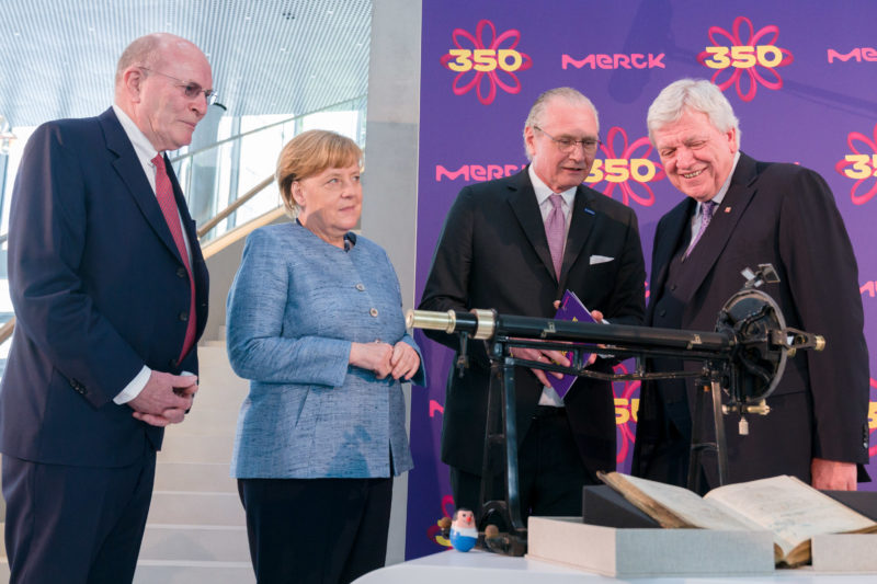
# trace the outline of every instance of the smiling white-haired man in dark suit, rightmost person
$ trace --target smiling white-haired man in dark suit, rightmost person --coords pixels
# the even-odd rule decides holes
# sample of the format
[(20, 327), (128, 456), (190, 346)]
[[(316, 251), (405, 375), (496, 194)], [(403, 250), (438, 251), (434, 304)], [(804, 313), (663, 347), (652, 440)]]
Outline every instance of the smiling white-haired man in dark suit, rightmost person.
[[(868, 460), (868, 355), (856, 261), (825, 181), (742, 153), (728, 100), (705, 80), (667, 87), (649, 108), (648, 126), (670, 182), (686, 198), (658, 225), (647, 322), (713, 330), (743, 285), (740, 272), (771, 263), (779, 283), (762, 289), (786, 323), (828, 343), (822, 353), (789, 359), (767, 399), (771, 413), (748, 416), (748, 436), (726, 425), (729, 482), (794, 474), (819, 489), (854, 490), (856, 463)], [(693, 382), (643, 386), (635, 473), (685, 484), (693, 403)], [(705, 410), (711, 431), (711, 409)], [(707, 479), (703, 490), (717, 485), (716, 468), (705, 457), (695, 470)]]

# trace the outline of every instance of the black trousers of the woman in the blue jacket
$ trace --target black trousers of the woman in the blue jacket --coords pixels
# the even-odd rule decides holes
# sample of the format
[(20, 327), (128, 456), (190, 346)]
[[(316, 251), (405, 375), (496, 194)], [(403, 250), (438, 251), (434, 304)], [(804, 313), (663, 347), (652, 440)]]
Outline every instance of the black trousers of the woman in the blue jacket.
[(352, 582), (384, 566), (392, 479), (239, 479), (259, 584)]

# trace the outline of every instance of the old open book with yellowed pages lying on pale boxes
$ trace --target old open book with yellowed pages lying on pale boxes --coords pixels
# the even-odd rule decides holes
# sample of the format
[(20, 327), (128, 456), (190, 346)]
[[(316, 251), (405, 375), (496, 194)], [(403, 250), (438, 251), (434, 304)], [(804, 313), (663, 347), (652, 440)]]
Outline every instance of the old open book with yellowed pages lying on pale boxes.
[(777, 564), (808, 563), (816, 535), (877, 531), (877, 523), (785, 474), (726, 484), (703, 499), (687, 489), (619, 472), (597, 474), (662, 527), (772, 531)]

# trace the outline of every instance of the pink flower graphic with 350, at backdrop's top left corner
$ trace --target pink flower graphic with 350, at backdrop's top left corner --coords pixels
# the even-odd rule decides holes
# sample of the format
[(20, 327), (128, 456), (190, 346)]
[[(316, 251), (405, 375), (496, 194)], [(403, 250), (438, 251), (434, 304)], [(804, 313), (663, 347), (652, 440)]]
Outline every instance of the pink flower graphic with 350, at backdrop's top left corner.
[[(485, 37), (487, 28), (490, 30), (489, 38)], [(493, 51), (514, 49), (521, 41), (521, 32), (512, 28), (497, 36), (497, 27), (493, 23), (489, 20), (482, 20), (478, 22), (475, 28), (475, 36), (463, 28), (455, 28), (452, 37), (458, 49), (471, 50), (474, 54), (476, 50), (483, 49)], [(508, 46), (502, 46), (506, 41), (509, 42)], [(517, 53), (521, 55), (522, 62), (516, 71), (524, 71), (533, 67), (533, 59), (529, 58), (529, 55)], [(493, 55), (497, 55), (497, 53), (493, 53)], [(447, 53), (442, 56), (441, 64), (446, 69), (453, 70), (448, 64), (454, 59), (455, 56)], [(463, 95), (475, 88), (478, 101), (485, 105), (490, 105), (497, 98), (497, 87), (513, 95), (521, 92), (521, 81), (517, 79), (515, 71), (506, 71), (501, 67), (496, 67), (491, 71), (478, 71), (472, 67), (468, 71), (458, 72), (451, 89), (455, 95)]]

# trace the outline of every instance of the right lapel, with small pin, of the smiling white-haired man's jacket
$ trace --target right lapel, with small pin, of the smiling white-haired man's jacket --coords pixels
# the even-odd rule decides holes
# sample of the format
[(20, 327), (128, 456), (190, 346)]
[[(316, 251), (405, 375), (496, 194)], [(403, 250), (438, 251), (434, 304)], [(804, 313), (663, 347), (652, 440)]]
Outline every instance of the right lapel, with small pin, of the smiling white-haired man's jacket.
[[(752, 201), (752, 196), (755, 194), (755, 187), (753, 186), (755, 176), (755, 161), (741, 152), (737, 169), (731, 178), (731, 184), (721, 201), (721, 205), (716, 209), (709, 228), (704, 232), (701, 241), (697, 242), (697, 245), (686, 260), (686, 262), (692, 263), (690, 266), (692, 287), (688, 288), (692, 296), (703, 284), (713, 266), (716, 265), (721, 252), (728, 244), (734, 227), (743, 216), (750, 201)], [(686, 300), (690, 299), (691, 297), (686, 298)]]

